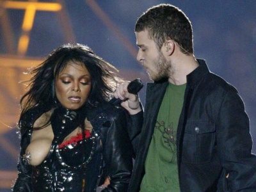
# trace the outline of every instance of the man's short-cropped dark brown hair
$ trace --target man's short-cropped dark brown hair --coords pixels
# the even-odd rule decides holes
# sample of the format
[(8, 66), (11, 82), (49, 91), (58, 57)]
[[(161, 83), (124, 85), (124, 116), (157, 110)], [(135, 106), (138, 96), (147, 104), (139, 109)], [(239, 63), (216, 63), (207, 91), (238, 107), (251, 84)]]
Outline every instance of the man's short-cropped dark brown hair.
[(166, 40), (174, 40), (184, 54), (193, 54), (193, 30), (185, 13), (171, 4), (159, 4), (148, 9), (137, 20), (135, 31), (148, 30), (160, 50)]

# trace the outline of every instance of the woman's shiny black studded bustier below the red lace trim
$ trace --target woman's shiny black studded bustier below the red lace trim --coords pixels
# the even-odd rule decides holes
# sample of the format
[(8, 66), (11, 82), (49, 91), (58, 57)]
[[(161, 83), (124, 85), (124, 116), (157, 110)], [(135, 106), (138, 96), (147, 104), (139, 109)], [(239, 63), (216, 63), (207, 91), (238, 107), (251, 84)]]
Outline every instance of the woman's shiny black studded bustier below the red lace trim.
[(92, 135), (62, 148), (53, 144), (45, 161), (33, 168), (33, 191), (95, 191), (103, 162), (96, 143), (99, 137)]

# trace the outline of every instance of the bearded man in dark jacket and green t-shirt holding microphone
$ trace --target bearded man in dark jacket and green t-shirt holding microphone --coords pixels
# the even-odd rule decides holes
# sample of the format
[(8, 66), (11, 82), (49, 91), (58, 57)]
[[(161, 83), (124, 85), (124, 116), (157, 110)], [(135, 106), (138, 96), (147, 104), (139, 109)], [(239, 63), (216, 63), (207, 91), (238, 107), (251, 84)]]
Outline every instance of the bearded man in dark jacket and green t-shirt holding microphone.
[[(115, 97), (133, 119), (136, 151), (129, 191), (256, 191), (256, 156), (236, 88), (193, 55), (191, 23), (159, 4), (135, 27), (147, 84), (145, 111), (121, 84)], [(141, 128), (142, 127), (142, 128)], [(138, 134), (140, 133), (140, 134)]]

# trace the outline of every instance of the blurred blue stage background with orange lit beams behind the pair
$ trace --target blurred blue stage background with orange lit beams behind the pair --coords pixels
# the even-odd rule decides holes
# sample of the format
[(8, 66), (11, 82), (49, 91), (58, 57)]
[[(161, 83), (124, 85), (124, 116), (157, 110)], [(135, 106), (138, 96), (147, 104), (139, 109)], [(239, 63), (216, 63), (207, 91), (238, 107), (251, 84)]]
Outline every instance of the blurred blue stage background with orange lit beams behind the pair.
[[(172, 3), (189, 17), (196, 58), (207, 60), (211, 72), (239, 90), (256, 142), (256, 1), (1, 0), (0, 191), (10, 191), (17, 176), (15, 127), (20, 95), (26, 88), (19, 81), (28, 79), (22, 74), (26, 68), (38, 65), (58, 46), (77, 42), (115, 65), (124, 79), (140, 77), (146, 83), (150, 80), (136, 61), (134, 24), (141, 13), (159, 3)], [(140, 97), (144, 102), (145, 87)]]

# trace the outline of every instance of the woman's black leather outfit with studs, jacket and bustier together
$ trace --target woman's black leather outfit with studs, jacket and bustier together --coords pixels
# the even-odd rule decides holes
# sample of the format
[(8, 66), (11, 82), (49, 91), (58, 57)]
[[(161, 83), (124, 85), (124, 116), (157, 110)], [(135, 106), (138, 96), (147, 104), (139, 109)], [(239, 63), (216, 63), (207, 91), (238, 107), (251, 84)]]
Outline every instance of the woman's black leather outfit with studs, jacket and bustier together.
[[(87, 109), (86, 117), (93, 126), (91, 136), (64, 148), (58, 148), (61, 134), (54, 128), (54, 140), (45, 161), (38, 166), (31, 166), (26, 164), (23, 156), (31, 141), (33, 123), (42, 113), (44, 107), (38, 106), (22, 116), (19, 176), (13, 191), (90, 192), (96, 191), (106, 176), (110, 177), (110, 184), (102, 191), (127, 191), (133, 152), (127, 134), (128, 115), (124, 109), (110, 104)], [(52, 127), (61, 127), (63, 119), (68, 127), (77, 127), (70, 117), (60, 116), (62, 120), (59, 122), (56, 118), (51, 120)]]

